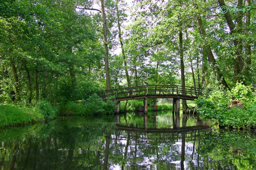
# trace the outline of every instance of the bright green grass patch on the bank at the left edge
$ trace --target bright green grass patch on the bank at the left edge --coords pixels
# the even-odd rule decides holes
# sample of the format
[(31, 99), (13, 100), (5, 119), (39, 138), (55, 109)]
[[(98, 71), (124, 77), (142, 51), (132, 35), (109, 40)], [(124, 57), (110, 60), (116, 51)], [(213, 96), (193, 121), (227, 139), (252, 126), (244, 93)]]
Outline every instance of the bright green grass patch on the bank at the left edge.
[(42, 121), (44, 115), (34, 107), (19, 107), (17, 105), (0, 105), (0, 127), (24, 125)]

